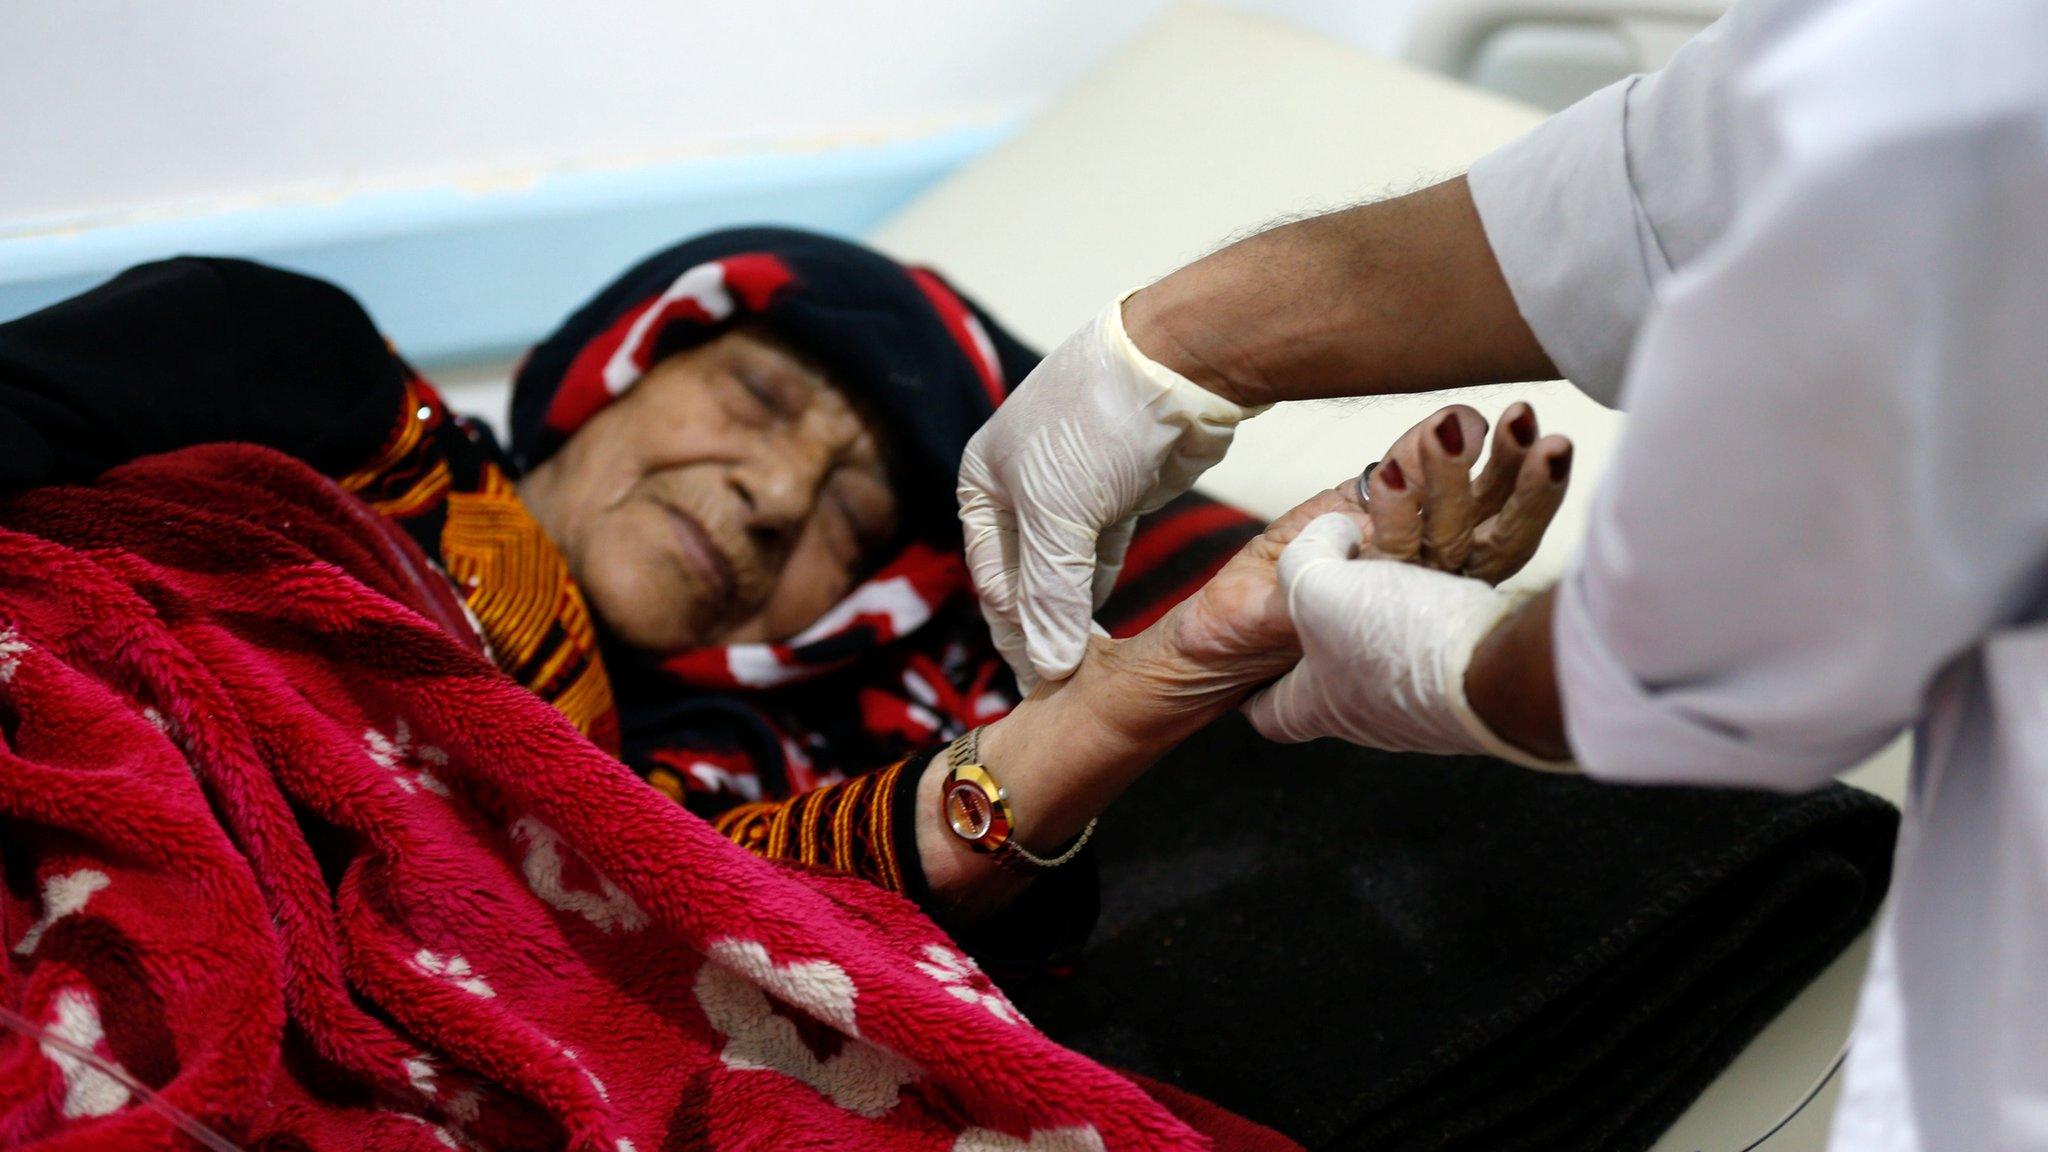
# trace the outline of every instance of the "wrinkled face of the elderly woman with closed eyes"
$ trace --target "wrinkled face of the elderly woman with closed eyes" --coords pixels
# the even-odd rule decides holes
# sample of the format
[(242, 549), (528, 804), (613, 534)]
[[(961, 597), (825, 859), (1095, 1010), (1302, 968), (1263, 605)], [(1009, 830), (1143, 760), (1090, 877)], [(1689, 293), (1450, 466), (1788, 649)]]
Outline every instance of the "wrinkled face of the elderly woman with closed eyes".
[(897, 531), (874, 424), (756, 328), (653, 365), (518, 490), (592, 611), (651, 652), (788, 640)]

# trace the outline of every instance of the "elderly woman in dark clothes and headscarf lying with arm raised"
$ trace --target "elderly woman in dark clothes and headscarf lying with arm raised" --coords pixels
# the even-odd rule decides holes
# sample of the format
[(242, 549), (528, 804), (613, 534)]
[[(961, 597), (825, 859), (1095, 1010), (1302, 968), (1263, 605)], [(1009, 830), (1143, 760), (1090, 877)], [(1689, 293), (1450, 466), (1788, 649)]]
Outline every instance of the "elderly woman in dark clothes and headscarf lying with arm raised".
[[(713, 234), (528, 355), (506, 453), (338, 289), (186, 258), (0, 326), (0, 482), (211, 441), (295, 455), (401, 525), (489, 658), (657, 789), (754, 853), (958, 927), (1032, 883), (1024, 853), (1063, 857), (1153, 758), (1286, 670), (1280, 545), (1323, 510), (1364, 517), (1356, 484), (1264, 533), (1169, 508), (1106, 609), (1135, 635), (1018, 705), (967, 594), (952, 469), (1032, 363), (928, 271), (799, 232)], [(1468, 408), (1403, 439), (1376, 547), (1491, 580), (1528, 560), (1569, 445), (1516, 406), (1466, 486), (1483, 439)], [(975, 728), (1004, 795), (965, 787), (948, 812), (944, 748)], [(1001, 804), (1014, 847), (989, 853)], [(1032, 959), (1085, 935), (1087, 881), (1061, 883), (1004, 933)]]

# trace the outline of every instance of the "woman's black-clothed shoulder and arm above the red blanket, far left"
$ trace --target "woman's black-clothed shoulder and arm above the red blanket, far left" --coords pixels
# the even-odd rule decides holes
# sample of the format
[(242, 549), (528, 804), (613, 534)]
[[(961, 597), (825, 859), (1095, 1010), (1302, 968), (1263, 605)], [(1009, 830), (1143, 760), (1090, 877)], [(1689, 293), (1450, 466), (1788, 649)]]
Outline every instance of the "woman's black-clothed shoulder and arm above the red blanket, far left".
[(0, 324), (0, 490), (246, 441), (338, 476), (389, 435), (406, 371), (342, 289), (178, 258)]

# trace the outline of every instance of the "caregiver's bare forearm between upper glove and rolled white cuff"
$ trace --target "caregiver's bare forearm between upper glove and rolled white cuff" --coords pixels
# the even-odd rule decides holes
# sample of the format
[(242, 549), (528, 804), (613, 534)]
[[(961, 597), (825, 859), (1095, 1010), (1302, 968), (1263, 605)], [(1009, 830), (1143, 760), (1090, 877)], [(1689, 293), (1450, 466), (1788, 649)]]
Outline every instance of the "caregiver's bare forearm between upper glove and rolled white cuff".
[(1239, 240), (1133, 295), (1124, 328), (1239, 404), (1556, 377), (1464, 176)]

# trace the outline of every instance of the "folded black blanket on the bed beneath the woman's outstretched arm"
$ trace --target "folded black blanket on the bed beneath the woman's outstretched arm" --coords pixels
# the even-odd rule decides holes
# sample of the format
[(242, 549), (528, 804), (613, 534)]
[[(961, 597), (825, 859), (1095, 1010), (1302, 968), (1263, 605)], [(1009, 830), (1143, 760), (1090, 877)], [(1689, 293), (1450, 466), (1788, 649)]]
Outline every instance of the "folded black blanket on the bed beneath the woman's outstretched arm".
[(1896, 812), (1274, 746), (1104, 818), (1102, 922), (1012, 980), (1057, 1039), (1311, 1148), (1649, 1148), (1870, 922)]

